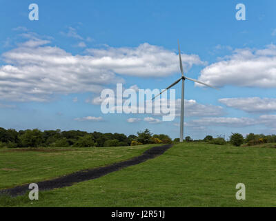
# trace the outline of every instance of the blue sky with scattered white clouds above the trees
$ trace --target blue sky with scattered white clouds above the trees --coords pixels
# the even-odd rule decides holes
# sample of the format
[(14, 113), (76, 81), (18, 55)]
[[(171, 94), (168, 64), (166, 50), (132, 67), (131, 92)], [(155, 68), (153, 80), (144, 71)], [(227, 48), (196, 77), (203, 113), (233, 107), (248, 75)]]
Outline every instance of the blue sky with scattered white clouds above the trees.
[[(39, 6), (38, 21), (28, 19), (30, 3)], [(246, 6), (246, 21), (235, 18), (237, 3)], [(121, 81), (124, 88), (166, 88), (180, 77), (179, 39), (186, 75), (220, 88), (186, 81), (184, 136), (276, 133), (275, 6), (273, 0), (2, 0), (0, 126), (127, 135), (150, 128), (178, 137), (179, 117), (104, 115), (95, 99)], [(175, 89), (179, 99), (181, 85)]]

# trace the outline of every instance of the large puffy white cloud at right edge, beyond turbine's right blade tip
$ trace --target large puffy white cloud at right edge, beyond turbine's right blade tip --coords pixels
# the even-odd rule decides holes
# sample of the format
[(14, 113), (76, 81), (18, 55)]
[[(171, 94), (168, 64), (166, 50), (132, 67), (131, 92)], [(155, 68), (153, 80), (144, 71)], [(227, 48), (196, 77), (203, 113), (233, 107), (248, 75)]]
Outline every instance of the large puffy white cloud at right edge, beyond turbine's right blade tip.
[(233, 55), (201, 70), (199, 81), (217, 87), (273, 88), (276, 86), (276, 46), (270, 44), (264, 49), (236, 49)]

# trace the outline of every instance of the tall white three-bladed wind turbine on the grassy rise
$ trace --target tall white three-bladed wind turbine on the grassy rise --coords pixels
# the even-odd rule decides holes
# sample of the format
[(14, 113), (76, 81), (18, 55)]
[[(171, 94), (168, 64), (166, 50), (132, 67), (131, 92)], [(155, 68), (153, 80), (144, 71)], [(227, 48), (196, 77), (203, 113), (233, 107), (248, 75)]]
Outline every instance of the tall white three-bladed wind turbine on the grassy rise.
[[(161, 93), (164, 93), (164, 91), (170, 89), (172, 86), (175, 86), (175, 84), (177, 84), (179, 81), (182, 80), (181, 111), (180, 111), (180, 136), (179, 136), (179, 140), (180, 140), (180, 142), (183, 142), (183, 132), (184, 132), (184, 86), (185, 86), (184, 83), (185, 83), (185, 80), (188, 79), (190, 81), (194, 81), (196, 83), (203, 84), (203, 85), (208, 86), (210, 88), (215, 88), (215, 87), (210, 86), (208, 84), (205, 84), (205, 83), (203, 83), (201, 81), (197, 81), (195, 79), (192, 79), (192, 78), (184, 76), (183, 66), (182, 66), (182, 59), (181, 59), (181, 53), (180, 53), (180, 47), (179, 47), (179, 41), (178, 41), (178, 52), (179, 52), (179, 64), (180, 64), (180, 70), (181, 70), (182, 76), (177, 81), (175, 81), (174, 83), (170, 84), (170, 86), (168, 86), (168, 88), (162, 90)], [(217, 88), (215, 88), (215, 89), (217, 89)], [(159, 95), (161, 95), (161, 93), (159, 93), (155, 97), (158, 97)], [(153, 97), (152, 100), (155, 99), (155, 97)]]

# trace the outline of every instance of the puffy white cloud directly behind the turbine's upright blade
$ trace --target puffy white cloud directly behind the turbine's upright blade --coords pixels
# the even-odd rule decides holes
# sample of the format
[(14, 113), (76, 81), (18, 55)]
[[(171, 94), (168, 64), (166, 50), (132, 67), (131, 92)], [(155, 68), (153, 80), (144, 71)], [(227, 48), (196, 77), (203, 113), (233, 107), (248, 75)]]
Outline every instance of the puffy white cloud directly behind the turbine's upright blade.
[[(95, 65), (104, 66), (121, 75), (165, 77), (179, 71), (179, 58), (175, 52), (148, 43), (136, 48), (90, 48), (86, 51), (95, 58)], [(198, 55), (181, 56), (185, 70), (193, 65), (205, 64)]]

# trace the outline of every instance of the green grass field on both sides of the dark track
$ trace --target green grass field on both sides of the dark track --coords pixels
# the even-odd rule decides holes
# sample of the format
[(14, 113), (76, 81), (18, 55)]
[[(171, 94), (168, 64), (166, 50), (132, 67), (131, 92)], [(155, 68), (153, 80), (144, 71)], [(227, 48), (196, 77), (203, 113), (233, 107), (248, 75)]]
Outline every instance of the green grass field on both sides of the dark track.
[[(80, 148), (57, 153), (2, 150), (0, 168), (17, 171), (0, 169), (0, 185), (4, 188), (110, 164), (146, 148)], [(175, 144), (164, 155), (99, 179), (41, 191), (39, 200), (29, 200), (28, 194), (1, 197), (0, 206), (276, 206), (275, 173), (276, 148)], [(239, 182), (246, 185), (246, 200), (235, 198)]]

